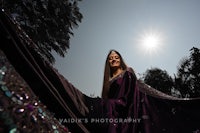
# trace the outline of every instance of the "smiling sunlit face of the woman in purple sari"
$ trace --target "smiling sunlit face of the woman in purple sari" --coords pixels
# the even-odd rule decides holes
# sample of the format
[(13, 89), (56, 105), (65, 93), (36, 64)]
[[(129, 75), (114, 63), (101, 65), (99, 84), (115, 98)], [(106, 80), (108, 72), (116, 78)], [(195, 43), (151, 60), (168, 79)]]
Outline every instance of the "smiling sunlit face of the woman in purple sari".
[(117, 68), (117, 67), (121, 67), (121, 60), (119, 55), (115, 52), (112, 51), (108, 57), (108, 61), (110, 64), (111, 68)]

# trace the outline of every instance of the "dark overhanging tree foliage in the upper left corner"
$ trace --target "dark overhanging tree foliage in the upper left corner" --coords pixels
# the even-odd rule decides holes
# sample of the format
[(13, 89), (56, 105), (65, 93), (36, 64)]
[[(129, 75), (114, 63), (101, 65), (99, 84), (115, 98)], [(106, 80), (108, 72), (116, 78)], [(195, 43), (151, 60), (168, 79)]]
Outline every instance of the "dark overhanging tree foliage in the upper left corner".
[(37, 52), (50, 63), (54, 50), (64, 57), (72, 29), (82, 20), (80, 0), (2, 0), (0, 6), (35, 42)]

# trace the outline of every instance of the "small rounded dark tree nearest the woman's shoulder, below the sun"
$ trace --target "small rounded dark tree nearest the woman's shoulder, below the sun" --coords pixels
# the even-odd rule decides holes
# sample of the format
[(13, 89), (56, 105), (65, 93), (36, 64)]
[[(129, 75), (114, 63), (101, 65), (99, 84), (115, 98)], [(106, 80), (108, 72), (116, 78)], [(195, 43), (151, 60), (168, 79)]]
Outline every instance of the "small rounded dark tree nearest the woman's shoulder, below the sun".
[(144, 74), (144, 82), (159, 91), (171, 95), (173, 79), (165, 70), (159, 68), (146, 70)]

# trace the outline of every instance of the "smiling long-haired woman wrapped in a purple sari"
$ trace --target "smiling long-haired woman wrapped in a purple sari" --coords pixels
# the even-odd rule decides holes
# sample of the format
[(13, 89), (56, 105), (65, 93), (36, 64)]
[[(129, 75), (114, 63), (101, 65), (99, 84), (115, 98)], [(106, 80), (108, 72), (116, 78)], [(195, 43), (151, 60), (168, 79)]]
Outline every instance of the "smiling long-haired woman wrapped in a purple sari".
[[(135, 115), (134, 91), (136, 89), (136, 76), (132, 68), (127, 67), (122, 56), (116, 50), (111, 50), (107, 56), (103, 82), (103, 99), (111, 99), (109, 118), (116, 120), (114, 126), (110, 125), (110, 132), (133, 132), (136, 129), (129, 120), (139, 120)], [(119, 122), (119, 120), (121, 120)], [(139, 121), (137, 121), (139, 122)], [(138, 123), (132, 125), (138, 125)]]

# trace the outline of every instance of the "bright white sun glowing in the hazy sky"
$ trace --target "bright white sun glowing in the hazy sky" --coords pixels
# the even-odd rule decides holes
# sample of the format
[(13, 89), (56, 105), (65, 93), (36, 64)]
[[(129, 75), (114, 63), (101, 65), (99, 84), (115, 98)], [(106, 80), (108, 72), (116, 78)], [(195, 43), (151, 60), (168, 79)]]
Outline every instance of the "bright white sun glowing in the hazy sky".
[(139, 38), (140, 47), (147, 54), (155, 54), (161, 47), (162, 37), (157, 32), (145, 32)]

